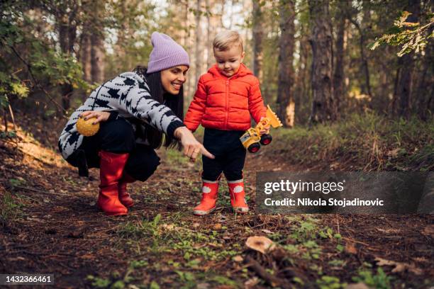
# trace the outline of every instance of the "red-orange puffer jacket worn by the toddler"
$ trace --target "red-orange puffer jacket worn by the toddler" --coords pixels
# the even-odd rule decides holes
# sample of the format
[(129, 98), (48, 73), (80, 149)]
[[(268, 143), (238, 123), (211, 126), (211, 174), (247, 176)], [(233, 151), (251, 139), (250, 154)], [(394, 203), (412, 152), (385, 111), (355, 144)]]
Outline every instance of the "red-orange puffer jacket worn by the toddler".
[(250, 115), (258, 123), (266, 112), (259, 80), (244, 64), (229, 78), (216, 64), (199, 79), (184, 124), (191, 131), (199, 124), (218, 130), (248, 130)]

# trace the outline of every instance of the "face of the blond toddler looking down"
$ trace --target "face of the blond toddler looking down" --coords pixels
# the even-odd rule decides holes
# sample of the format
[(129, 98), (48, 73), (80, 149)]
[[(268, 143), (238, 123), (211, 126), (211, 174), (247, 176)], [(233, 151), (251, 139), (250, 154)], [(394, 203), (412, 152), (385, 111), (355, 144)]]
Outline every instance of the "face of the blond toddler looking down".
[(245, 53), (241, 51), (238, 45), (233, 45), (229, 50), (221, 51), (214, 49), (214, 57), (216, 57), (217, 67), (221, 74), (226, 77), (232, 77), (238, 72), (240, 64), (244, 60)]

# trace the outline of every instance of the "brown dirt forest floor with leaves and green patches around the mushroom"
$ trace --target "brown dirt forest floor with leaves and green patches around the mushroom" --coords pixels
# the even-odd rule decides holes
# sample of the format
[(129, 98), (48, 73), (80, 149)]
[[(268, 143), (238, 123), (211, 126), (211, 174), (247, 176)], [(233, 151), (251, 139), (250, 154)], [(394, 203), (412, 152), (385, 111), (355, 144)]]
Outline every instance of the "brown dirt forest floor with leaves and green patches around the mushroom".
[[(80, 179), (46, 145), (55, 133), (38, 131), (0, 142), (0, 273), (52, 273), (55, 288), (433, 285), (434, 215), (257, 214), (257, 171), (308, 169), (284, 155), (247, 158), (247, 215), (230, 210), (223, 181), (218, 210), (194, 217), (200, 164), (160, 150), (157, 173), (129, 187), (128, 215), (106, 217), (95, 205), (99, 171)], [(277, 249), (247, 249), (251, 236), (266, 236)]]

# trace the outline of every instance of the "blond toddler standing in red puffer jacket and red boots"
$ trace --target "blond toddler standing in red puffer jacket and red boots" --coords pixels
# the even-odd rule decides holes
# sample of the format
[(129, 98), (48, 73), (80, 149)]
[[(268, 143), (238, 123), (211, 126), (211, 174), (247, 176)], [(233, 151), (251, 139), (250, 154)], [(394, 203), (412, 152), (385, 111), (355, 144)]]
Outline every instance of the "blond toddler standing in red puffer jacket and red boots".
[[(240, 136), (265, 117), (260, 83), (245, 67), (243, 40), (235, 31), (218, 33), (213, 41), (216, 64), (201, 76), (184, 124), (195, 131), (205, 128), (204, 147), (216, 158), (202, 157), (202, 199), (194, 215), (207, 215), (216, 208), (221, 173), (228, 181), (230, 203), (236, 212), (248, 212), (243, 167), (246, 150)], [(261, 131), (268, 133), (269, 128)]]

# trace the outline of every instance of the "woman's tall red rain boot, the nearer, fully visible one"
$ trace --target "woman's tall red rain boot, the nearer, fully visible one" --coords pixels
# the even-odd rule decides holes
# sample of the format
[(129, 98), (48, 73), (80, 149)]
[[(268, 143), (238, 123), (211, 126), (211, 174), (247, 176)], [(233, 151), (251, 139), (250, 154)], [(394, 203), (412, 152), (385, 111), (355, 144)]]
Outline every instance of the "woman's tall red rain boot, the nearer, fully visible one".
[(122, 205), (118, 196), (118, 183), (123, 174), (123, 168), (128, 160), (128, 154), (115, 154), (113, 152), (99, 152), (101, 157), (99, 166), (98, 207), (106, 212), (106, 215), (126, 215), (128, 209)]

